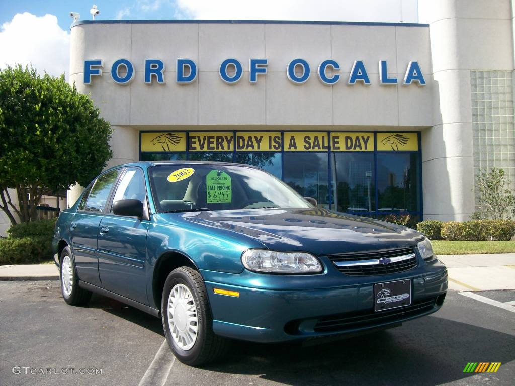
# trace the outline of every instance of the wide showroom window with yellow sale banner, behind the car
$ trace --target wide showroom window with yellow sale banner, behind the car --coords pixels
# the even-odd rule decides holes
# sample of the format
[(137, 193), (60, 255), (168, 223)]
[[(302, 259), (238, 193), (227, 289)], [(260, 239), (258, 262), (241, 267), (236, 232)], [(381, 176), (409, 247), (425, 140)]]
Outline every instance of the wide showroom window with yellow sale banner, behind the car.
[(253, 165), (320, 208), (422, 219), (418, 132), (234, 131), (140, 133), (141, 161)]

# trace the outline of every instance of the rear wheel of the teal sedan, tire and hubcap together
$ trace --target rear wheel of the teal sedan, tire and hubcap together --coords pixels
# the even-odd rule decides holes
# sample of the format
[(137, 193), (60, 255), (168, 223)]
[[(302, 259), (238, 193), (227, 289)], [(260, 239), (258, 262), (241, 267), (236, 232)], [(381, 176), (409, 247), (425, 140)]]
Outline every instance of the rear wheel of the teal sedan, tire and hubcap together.
[(79, 287), (75, 260), (70, 247), (63, 249), (60, 262), (59, 281), (64, 301), (72, 306), (88, 303), (91, 298), (91, 291)]

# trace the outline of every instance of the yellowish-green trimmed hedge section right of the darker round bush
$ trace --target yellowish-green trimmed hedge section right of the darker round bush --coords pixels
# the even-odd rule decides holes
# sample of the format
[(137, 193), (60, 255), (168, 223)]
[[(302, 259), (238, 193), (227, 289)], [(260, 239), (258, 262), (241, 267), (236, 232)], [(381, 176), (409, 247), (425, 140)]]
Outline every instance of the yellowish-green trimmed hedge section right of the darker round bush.
[(441, 231), (444, 240), (453, 241), (507, 241), (514, 235), (512, 220), (449, 221), (442, 224)]

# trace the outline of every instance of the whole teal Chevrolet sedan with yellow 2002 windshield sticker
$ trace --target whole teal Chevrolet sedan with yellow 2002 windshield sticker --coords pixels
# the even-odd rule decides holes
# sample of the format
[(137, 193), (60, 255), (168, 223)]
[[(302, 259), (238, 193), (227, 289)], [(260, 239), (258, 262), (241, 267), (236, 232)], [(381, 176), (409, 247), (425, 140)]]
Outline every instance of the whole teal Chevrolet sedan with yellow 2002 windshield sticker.
[(139, 162), (63, 210), (53, 247), (66, 303), (92, 292), (163, 322), (183, 363), (228, 339), (333, 339), (438, 310), (447, 269), (404, 226), (316, 207), (251, 166)]

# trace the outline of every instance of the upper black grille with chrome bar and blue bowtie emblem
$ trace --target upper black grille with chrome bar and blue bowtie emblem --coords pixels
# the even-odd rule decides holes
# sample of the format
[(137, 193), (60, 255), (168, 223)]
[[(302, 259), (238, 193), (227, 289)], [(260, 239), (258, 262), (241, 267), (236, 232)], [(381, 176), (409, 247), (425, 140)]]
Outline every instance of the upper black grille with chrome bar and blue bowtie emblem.
[[(388, 264), (373, 263), (373, 260), (382, 258), (399, 258), (406, 256), (400, 261), (391, 261)], [(396, 249), (389, 251), (370, 251), (362, 253), (346, 253), (330, 255), (329, 259), (341, 273), (350, 276), (374, 276), (386, 275), (408, 271), (417, 266), (417, 257), (413, 248)], [(362, 262), (363, 264), (359, 264)], [(338, 263), (342, 266), (338, 266)]]

